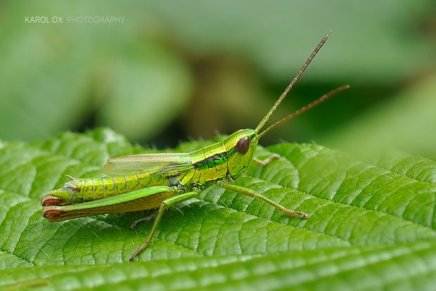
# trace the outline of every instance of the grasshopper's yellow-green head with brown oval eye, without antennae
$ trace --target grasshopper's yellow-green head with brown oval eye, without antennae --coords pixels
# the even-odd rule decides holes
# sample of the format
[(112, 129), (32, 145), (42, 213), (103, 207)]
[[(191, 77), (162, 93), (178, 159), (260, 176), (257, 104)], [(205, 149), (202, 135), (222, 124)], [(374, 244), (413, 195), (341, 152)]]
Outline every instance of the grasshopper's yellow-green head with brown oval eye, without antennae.
[(257, 132), (254, 129), (241, 129), (223, 141), (226, 147), (227, 171), (233, 179), (238, 179), (245, 173), (255, 154), (257, 141)]

